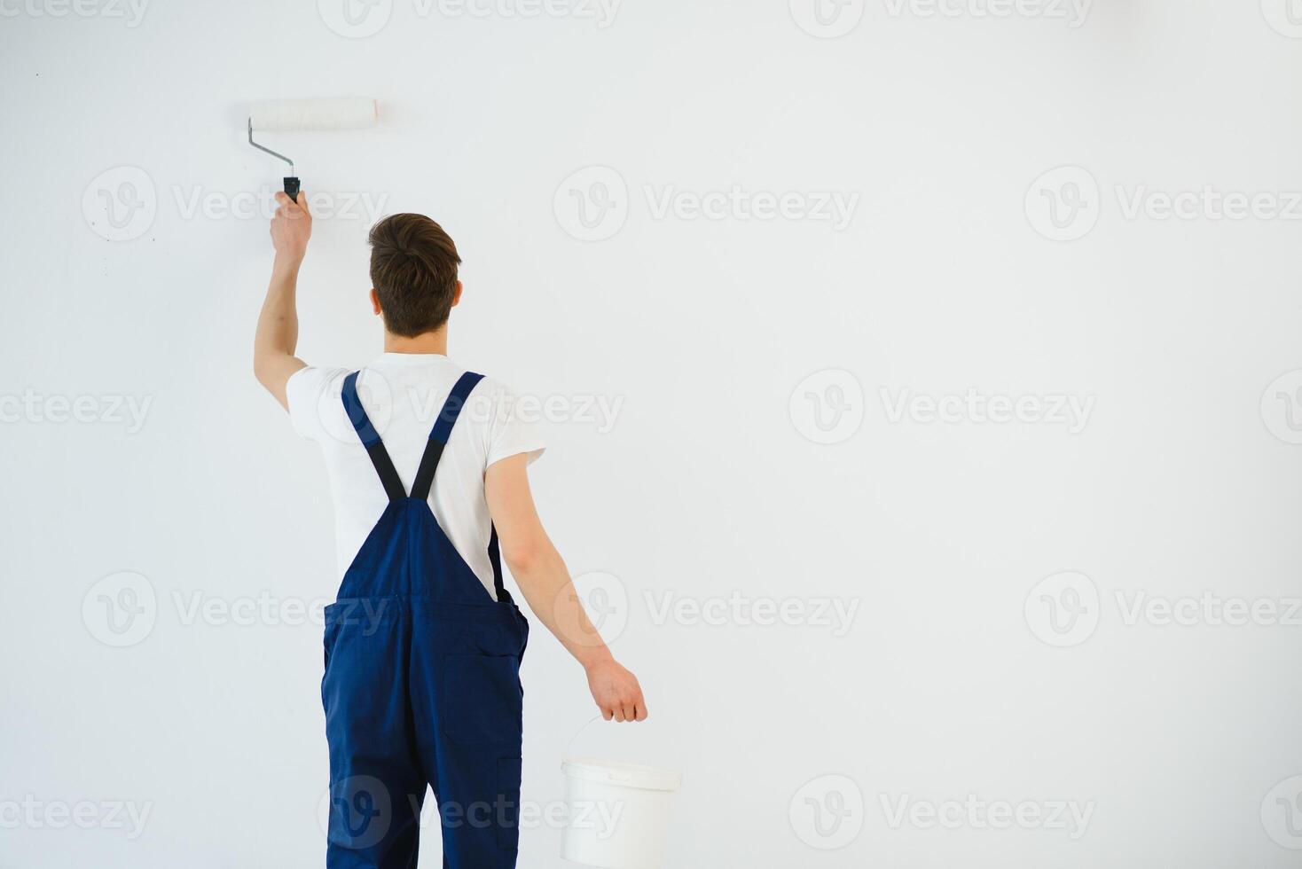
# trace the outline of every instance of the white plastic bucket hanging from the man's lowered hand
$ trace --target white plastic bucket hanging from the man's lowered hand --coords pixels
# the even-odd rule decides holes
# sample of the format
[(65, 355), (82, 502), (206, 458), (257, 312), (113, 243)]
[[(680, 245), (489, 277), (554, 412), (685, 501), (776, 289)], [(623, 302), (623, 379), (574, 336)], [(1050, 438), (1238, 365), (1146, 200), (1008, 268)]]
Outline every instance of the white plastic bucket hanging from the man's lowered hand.
[(678, 773), (566, 757), (561, 857), (604, 869), (659, 869)]

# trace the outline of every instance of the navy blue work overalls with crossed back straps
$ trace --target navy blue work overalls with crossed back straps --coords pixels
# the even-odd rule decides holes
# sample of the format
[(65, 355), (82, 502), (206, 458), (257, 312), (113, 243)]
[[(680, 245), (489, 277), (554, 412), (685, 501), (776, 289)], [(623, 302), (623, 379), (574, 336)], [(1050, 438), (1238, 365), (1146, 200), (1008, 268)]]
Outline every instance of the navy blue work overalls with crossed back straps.
[(326, 608), (329, 869), (414, 869), (426, 784), (443, 826), (445, 869), (510, 869), (519, 840), (519, 661), (529, 623), (503, 588), (497, 532), (488, 555), (497, 600), (430, 509), (439, 457), (482, 375), (444, 403), (402, 490), (357, 397), (344, 408), (389, 503)]

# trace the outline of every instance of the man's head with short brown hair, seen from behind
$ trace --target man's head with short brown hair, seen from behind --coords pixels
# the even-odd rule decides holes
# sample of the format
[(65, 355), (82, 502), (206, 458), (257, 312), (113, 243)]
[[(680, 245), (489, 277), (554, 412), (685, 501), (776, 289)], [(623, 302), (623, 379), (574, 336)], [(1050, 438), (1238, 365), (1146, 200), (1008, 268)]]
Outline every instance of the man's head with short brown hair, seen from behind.
[(461, 258), (443, 226), (424, 215), (389, 215), (371, 226), (371, 286), (384, 328), (414, 338), (448, 321), (461, 298)]

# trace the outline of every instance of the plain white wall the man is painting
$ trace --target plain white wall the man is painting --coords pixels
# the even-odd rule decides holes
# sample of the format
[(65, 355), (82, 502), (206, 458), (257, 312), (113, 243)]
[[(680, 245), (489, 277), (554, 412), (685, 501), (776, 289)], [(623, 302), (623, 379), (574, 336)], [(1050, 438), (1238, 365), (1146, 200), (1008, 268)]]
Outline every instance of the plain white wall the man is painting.
[[(1297, 621), (1302, 558), (1285, 0), (1083, 21), (849, 0), (831, 30), (802, 0), (625, 0), (604, 22), (381, 0), (365, 38), (327, 23), (344, 0), (96, 1), (0, 0), (0, 866), (322, 862), (319, 627), (280, 621), (333, 595), (331, 506), (250, 373), (266, 220), (214, 208), (279, 183), (246, 101), (331, 94), (376, 95), (381, 126), (268, 137), (341, 212), (316, 225), (301, 355), (378, 353), (365, 234), (421, 211), (465, 258), (456, 358), (622, 402), (609, 431), (549, 424), (535, 481), (574, 572), (617, 578), (613, 645), (652, 709), (582, 749), (685, 773), (668, 865), (1294, 865), (1299, 628), (1262, 609)], [(616, 174), (569, 180), (589, 167)], [(594, 182), (617, 207), (585, 242)], [(857, 200), (848, 226), (658, 215), (733, 185)], [(1154, 211), (1204, 186), (1293, 211)], [(105, 193), (146, 207), (105, 226)], [(1090, 412), (1075, 433), (1030, 403), (892, 419), (902, 390), (969, 389)], [(78, 397), (95, 420), (57, 421)], [(148, 402), (142, 425), (118, 398)], [(102, 580), (122, 571), (155, 606), (112, 648)], [(1085, 579), (1038, 585), (1064, 571)], [(1051, 622), (1073, 591), (1088, 611)], [(1255, 623), (1210, 623), (1215, 601), (1128, 618), (1204, 592)], [(840, 634), (656, 615), (734, 593), (857, 610)], [(281, 604), (251, 624), (190, 614), (259, 596)], [(525, 670), (526, 799), (547, 804), (590, 701), (540, 630)], [(969, 795), (1091, 814), (928, 825)], [(116, 803), (147, 808), (139, 835)], [(526, 831), (521, 865), (561, 865), (559, 838)]]

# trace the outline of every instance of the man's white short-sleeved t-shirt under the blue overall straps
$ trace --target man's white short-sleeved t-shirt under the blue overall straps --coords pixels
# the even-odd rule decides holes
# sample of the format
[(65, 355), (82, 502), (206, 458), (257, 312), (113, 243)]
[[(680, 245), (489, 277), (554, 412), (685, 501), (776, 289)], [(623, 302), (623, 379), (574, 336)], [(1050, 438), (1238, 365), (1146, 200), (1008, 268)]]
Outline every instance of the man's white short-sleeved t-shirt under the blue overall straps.
[[(349, 373), (348, 368), (302, 368), (289, 379), (285, 390), (294, 431), (316, 441), (326, 457), (335, 498), (340, 578), (389, 502), (344, 410), (341, 393)], [(464, 368), (443, 355), (385, 353), (357, 377), (358, 398), (384, 441), (405, 492), (411, 492), (430, 429), (462, 373)], [(488, 561), (492, 522), (484, 500), (484, 471), (519, 453), (527, 453), (530, 462), (543, 453), (536, 427), (516, 416), (514, 405), (514, 395), (500, 382), (484, 377), (475, 385), (452, 427), (430, 490), (439, 527), (490, 595), (493, 595)]]

